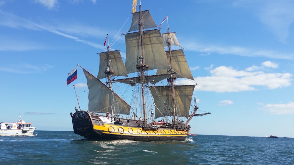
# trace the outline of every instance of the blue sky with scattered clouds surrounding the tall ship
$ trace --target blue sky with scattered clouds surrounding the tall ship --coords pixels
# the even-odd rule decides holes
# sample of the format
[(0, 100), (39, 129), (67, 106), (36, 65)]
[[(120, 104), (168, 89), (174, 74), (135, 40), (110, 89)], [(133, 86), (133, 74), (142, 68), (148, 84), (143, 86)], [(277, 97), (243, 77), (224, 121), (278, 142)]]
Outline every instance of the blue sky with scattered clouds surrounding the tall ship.
[[(66, 86), (80, 64), (98, 73), (106, 35), (125, 53), (132, 0), (0, 0), (1, 122), (23, 114), (37, 130), (72, 131), (70, 112), (86, 109), (86, 79)], [(169, 2), (169, 3), (167, 3)], [(139, 3), (139, 2), (138, 2)], [(199, 85), (191, 132), (206, 135), (294, 136), (293, 1), (141, 1), (171, 32)], [(139, 5), (138, 5), (139, 6)], [(137, 11), (138, 11), (137, 6)], [(167, 32), (167, 21), (162, 26)]]

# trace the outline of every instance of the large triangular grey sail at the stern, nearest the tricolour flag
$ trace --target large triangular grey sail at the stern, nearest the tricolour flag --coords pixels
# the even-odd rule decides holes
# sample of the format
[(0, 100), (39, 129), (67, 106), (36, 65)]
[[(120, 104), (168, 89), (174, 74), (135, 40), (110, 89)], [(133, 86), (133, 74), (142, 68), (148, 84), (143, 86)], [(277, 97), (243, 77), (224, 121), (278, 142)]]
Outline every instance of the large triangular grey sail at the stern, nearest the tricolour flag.
[(113, 100), (116, 100), (118, 103), (118, 109), (116, 109), (115, 112), (119, 112), (120, 114), (128, 114), (130, 112), (131, 106), (126, 103), (126, 101), (124, 101), (121, 97), (109, 89), (99, 79), (90, 74), (87, 70), (83, 69), (83, 72), (87, 78), (89, 89), (88, 99), (90, 112), (112, 112), (111, 109), (114, 109), (115, 107)]

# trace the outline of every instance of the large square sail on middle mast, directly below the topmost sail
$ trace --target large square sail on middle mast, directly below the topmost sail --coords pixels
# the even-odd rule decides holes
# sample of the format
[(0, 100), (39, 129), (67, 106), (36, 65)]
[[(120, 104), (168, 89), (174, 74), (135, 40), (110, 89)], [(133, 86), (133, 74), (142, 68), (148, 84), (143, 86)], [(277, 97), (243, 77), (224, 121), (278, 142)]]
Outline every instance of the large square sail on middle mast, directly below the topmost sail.
[[(144, 21), (146, 23), (146, 21)], [(125, 34), (126, 38), (126, 63), (127, 73), (137, 72), (136, 65), (142, 56), (141, 37), (139, 33)], [(168, 59), (165, 55), (162, 37), (159, 30), (147, 30), (143, 32), (143, 47), (148, 70), (170, 69)]]

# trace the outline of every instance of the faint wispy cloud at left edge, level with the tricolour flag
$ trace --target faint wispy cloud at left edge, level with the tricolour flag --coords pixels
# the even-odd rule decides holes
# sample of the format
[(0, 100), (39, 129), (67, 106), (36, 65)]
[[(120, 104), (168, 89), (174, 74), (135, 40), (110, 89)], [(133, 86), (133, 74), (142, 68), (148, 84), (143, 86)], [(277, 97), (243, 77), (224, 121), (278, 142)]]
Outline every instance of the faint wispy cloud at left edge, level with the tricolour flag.
[(31, 74), (31, 73), (43, 73), (46, 72), (48, 69), (51, 69), (52, 65), (31, 65), (31, 64), (24, 64), (24, 65), (14, 65), (11, 67), (0, 67), (0, 71), (2, 72), (11, 72), (11, 73), (20, 73), (20, 74)]

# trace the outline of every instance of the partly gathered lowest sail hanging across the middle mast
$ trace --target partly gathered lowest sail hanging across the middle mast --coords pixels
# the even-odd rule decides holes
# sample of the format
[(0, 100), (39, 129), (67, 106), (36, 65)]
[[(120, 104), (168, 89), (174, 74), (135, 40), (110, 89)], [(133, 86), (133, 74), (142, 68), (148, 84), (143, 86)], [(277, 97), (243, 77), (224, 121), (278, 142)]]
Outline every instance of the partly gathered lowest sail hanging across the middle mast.
[[(145, 76), (146, 83), (156, 84), (159, 81), (168, 78), (169, 76), (171, 76), (171, 74), (175, 74), (175, 73), (156, 74), (156, 75)], [(140, 77), (131, 77), (131, 78), (113, 80), (113, 82), (121, 82), (121, 83), (125, 83), (125, 84), (131, 84), (131, 86), (135, 85), (136, 83), (140, 83), (140, 81), (141, 81)]]

